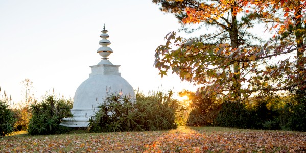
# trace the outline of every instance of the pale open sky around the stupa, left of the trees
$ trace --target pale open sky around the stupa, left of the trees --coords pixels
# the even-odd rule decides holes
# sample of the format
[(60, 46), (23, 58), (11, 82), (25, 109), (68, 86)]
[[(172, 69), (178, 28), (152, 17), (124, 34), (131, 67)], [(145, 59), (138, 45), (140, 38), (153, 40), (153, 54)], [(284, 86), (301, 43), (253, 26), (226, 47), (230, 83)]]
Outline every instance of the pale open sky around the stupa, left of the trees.
[(22, 99), (20, 83), (26, 78), (38, 99), (53, 88), (73, 98), (89, 78), (89, 66), (100, 62), (104, 22), (113, 50), (109, 60), (121, 65), (119, 72), (134, 89), (196, 90), (175, 74), (161, 79), (154, 68), (155, 49), (180, 25), (150, 0), (0, 0), (0, 20), (0, 94), (7, 91), (12, 101)]

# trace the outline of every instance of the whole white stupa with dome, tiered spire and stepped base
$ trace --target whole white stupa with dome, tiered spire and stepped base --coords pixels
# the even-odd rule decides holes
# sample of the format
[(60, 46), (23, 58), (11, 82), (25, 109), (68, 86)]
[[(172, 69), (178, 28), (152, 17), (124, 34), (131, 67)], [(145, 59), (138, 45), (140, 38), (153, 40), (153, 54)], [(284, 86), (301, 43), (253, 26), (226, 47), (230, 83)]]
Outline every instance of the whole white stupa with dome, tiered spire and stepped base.
[(97, 50), (97, 53), (102, 56), (102, 60), (97, 65), (90, 66), (91, 74), (89, 74), (89, 78), (78, 87), (71, 109), (73, 118), (64, 118), (60, 125), (87, 127), (89, 118), (98, 110), (99, 104), (105, 102), (107, 93), (135, 97), (133, 87), (118, 72), (120, 65), (113, 65), (107, 58), (113, 51), (108, 47), (110, 41), (107, 40), (109, 35), (105, 30), (105, 25), (101, 32), (100, 37), (103, 39), (100, 40), (99, 44), (102, 47)]

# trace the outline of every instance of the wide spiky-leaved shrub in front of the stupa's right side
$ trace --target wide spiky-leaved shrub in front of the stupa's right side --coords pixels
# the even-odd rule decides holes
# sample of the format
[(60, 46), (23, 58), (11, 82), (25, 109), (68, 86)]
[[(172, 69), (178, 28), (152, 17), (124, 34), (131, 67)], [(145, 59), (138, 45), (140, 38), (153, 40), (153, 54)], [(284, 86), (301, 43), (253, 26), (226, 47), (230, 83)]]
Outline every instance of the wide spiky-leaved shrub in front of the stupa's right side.
[(176, 128), (178, 101), (173, 92), (136, 94), (136, 100), (126, 95), (110, 93), (105, 103), (89, 119), (89, 130), (95, 132), (147, 131)]

